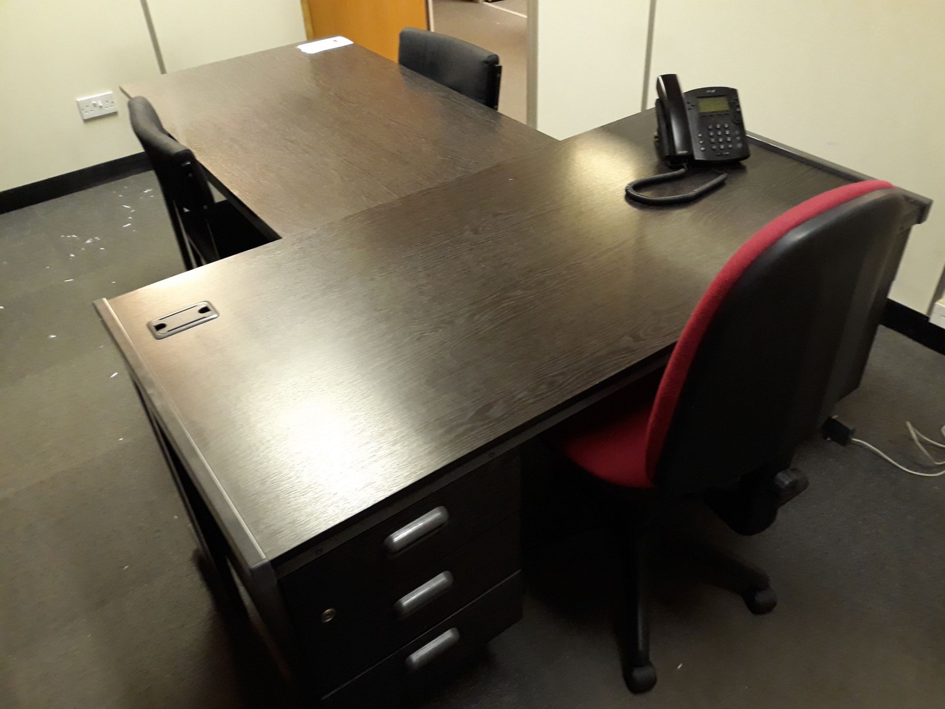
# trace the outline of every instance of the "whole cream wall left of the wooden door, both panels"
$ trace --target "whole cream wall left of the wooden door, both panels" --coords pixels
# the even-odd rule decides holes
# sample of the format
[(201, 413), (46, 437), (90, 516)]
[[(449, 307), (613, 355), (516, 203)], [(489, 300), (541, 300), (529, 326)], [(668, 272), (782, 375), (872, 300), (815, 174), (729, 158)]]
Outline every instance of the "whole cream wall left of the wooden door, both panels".
[[(167, 71), (301, 42), (299, 0), (149, 0)], [(158, 74), (139, 0), (0, 0), (0, 190), (141, 151), (118, 86)], [(83, 122), (76, 98), (111, 90)]]

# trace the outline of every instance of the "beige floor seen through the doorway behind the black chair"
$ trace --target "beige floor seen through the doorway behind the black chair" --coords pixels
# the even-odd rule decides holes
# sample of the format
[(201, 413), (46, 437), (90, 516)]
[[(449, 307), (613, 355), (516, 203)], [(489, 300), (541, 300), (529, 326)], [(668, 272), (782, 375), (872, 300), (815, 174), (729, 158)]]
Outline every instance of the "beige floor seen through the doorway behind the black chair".
[(522, 123), (528, 106), (525, 89), (528, 57), (526, 7), (527, 0), (433, 2), (433, 23), (438, 32), (478, 44), (499, 55), (502, 62), (499, 111)]

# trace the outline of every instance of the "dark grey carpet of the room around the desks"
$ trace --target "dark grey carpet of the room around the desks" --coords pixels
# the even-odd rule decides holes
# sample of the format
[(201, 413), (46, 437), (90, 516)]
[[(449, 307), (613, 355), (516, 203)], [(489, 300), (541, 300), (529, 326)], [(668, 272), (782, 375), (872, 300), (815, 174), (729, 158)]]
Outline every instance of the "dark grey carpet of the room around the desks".
[[(201, 582), (173, 484), (90, 304), (179, 268), (150, 174), (0, 215), (4, 709), (278, 705)], [(943, 377), (945, 357), (882, 330), (841, 413), (915, 460), (903, 421), (930, 434), (945, 423)], [(590, 529), (528, 555), (524, 620), (422, 706), (940, 706), (945, 478), (824, 441), (796, 463), (810, 490), (762, 535), (738, 538), (682, 510), (764, 565), (781, 603), (752, 616), (665, 557), (650, 695), (630, 697), (621, 683), (613, 560)]]

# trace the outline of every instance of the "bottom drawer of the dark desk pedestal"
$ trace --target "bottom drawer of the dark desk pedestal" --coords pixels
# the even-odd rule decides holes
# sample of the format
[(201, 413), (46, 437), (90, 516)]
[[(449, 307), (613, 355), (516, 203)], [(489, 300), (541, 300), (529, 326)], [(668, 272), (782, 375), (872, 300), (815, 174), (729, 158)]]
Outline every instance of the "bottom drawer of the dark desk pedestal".
[(412, 643), (322, 699), (325, 709), (388, 709), (448, 675), (457, 663), (522, 618), (516, 572)]

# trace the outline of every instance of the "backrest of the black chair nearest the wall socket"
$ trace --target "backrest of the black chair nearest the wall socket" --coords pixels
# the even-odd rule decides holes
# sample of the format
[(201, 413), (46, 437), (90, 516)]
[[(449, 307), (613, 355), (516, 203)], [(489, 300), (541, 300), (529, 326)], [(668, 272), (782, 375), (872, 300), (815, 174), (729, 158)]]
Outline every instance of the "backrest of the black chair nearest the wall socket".
[[(214, 204), (210, 184), (190, 148), (174, 140), (164, 130), (161, 119), (144, 96), (128, 102), (131, 129), (138, 136), (158, 177), (175, 232), (182, 227), (195, 242), (204, 261), (217, 258), (213, 233), (206, 211)], [(186, 259), (185, 259), (186, 261)]]

